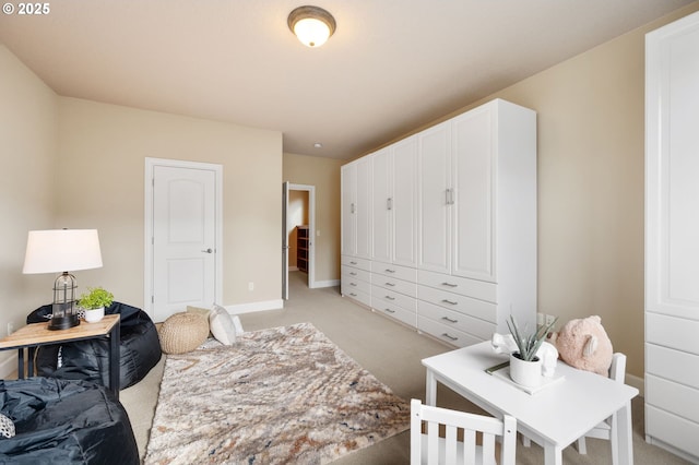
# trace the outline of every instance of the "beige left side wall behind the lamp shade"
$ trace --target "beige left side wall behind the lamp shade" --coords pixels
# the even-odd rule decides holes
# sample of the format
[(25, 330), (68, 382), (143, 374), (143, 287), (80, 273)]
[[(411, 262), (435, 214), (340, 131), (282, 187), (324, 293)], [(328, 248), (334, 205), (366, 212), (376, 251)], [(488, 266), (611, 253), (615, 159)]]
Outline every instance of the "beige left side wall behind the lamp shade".
[[(0, 335), (52, 299), (55, 276), (23, 275), (29, 229), (54, 227), (56, 94), (0, 45)], [(10, 353), (0, 353), (0, 369)]]

